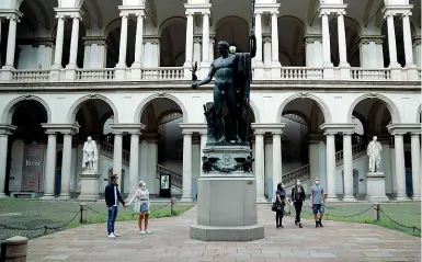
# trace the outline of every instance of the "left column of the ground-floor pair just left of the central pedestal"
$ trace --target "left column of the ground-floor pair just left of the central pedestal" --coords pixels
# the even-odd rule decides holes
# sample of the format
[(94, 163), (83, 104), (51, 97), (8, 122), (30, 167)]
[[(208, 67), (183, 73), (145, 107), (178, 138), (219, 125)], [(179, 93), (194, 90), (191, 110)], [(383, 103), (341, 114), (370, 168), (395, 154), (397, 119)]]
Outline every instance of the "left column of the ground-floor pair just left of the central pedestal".
[(192, 132), (183, 134), (183, 193), (181, 202), (192, 202)]

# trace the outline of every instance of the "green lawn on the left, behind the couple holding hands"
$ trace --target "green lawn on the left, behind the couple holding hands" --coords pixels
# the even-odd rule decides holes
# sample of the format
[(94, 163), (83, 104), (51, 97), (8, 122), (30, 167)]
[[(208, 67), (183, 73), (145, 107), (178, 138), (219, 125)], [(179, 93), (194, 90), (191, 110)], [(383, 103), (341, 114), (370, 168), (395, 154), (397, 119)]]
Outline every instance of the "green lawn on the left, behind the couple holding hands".
[[(88, 224), (106, 223), (107, 209), (101, 203), (87, 203)], [(193, 205), (176, 204), (175, 215), (190, 209)], [(81, 224), (80, 206), (76, 201), (32, 201), (0, 200), (0, 241), (13, 236), (28, 239), (57, 230), (78, 227)], [(150, 218), (171, 216), (170, 203), (151, 204)], [(121, 207), (117, 221), (136, 220), (133, 206)]]

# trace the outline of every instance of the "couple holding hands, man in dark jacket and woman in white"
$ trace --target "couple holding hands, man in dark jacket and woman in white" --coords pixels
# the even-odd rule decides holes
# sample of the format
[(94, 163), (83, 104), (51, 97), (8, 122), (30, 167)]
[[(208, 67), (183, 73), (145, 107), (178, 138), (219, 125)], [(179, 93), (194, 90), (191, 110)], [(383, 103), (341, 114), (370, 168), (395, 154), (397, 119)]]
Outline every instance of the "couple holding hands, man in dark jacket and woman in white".
[[(119, 237), (118, 233), (114, 231), (114, 225), (116, 221), (117, 213), (118, 213), (118, 204), (122, 203), (123, 207), (127, 207), (132, 203), (135, 203), (134, 210), (139, 214), (138, 218), (138, 227), (139, 232), (141, 235), (150, 233), (148, 230), (148, 219), (149, 219), (149, 192), (146, 187), (146, 183), (144, 181), (139, 181), (138, 189), (135, 194), (132, 196), (130, 201), (126, 204), (121, 195), (117, 184), (117, 175), (113, 174), (111, 178), (111, 183), (105, 186), (105, 204), (109, 209), (109, 219), (107, 219), (107, 236), (109, 238)], [(145, 229), (142, 229), (142, 220), (145, 221)]]

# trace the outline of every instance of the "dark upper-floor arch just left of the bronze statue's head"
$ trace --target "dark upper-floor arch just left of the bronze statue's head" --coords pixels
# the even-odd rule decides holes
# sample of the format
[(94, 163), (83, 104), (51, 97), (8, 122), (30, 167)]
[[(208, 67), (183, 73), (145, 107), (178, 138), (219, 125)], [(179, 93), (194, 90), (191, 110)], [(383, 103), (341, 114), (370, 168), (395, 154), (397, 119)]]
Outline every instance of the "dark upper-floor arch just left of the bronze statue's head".
[(171, 18), (160, 29), (160, 66), (182, 67), (185, 61), (186, 20)]

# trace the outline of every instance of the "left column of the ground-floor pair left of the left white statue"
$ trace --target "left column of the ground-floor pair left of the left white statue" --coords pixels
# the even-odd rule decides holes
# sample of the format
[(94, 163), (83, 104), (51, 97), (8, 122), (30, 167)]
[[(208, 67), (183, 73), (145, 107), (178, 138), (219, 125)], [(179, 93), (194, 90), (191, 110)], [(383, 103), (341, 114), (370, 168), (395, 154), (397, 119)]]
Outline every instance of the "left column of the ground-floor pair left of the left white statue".
[(57, 137), (55, 132), (46, 132), (48, 134), (47, 144), (47, 163), (44, 176), (44, 195), (43, 200), (54, 198), (54, 185), (56, 180), (56, 144)]

